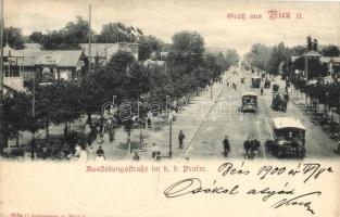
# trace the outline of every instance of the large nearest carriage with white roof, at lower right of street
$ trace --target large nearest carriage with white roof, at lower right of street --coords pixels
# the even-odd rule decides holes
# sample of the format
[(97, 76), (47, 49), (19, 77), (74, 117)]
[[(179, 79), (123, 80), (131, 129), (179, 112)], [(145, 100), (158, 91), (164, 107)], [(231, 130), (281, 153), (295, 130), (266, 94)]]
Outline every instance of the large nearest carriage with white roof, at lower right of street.
[(266, 149), (277, 157), (305, 156), (305, 127), (299, 119), (277, 117), (272, 122), (273, 139), (266, 141)]

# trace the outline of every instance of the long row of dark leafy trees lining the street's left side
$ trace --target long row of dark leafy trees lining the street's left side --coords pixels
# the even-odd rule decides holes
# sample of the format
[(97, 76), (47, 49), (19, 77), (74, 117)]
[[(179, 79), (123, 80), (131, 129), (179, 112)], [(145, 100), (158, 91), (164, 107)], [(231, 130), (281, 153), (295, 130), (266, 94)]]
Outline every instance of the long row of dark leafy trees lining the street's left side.
[[(91, 115), (100, 114), (102, 105), (112, 101), (113, 95), (116, 95), (115, 103), (122, 105), (115, 124), (124, 126), (129, 136), (135, 127), (140, 127), (139, 123), (144, 122), (152, 102), (158, 102), (160, 110), (164, 110), (167, 95), (169, 102), (184, 97), (189, 100), (202, 88), (221, 80), (223, 72), (239, 59), (235, 50), (227, 50), (225, 54), (206, 53), (203, 37), (191, 31), (175, 34), (168, 50), (163, 65), (146, 66), (130, 53), (119, 51), (106, 65), (84, 75), (81, 82), (55, 80), (48, 86), (36, 84), (28, 93), (5, 95), (5, 143), (23, 130), (45, 129), (48, 139), (51, 124), (67, 126), (81, 114), (87, 114), (88, 123), (91, 123)], [(130, 115), (122, 118), (119, 112)], [(133, 118), (136, 115), (141, 117), (138, 123)]]

